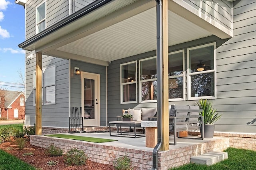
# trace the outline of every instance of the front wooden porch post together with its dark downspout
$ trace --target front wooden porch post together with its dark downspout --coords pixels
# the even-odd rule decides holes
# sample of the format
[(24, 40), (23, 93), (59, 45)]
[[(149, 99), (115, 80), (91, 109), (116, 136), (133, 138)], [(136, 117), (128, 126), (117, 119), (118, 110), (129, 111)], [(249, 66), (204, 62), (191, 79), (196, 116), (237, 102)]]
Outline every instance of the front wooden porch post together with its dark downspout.
[(158, 144), (155, 149), (160, 147), (164, 151), (169, 150), (168, 0), (156, 0), (156, 3)]

